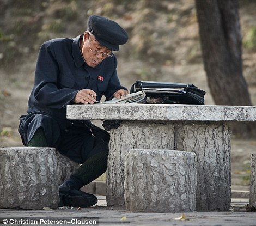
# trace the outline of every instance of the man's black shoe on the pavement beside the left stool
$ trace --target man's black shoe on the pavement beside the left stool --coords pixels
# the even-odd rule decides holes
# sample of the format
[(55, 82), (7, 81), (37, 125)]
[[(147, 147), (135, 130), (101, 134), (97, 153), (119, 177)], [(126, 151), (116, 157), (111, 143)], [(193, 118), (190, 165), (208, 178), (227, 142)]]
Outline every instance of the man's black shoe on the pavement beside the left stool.
[(70, 186), (59, 187), (59, 205), (73, 207), (90, 207), (97, 203), (97, 197), (93, 194), (82, 192)]

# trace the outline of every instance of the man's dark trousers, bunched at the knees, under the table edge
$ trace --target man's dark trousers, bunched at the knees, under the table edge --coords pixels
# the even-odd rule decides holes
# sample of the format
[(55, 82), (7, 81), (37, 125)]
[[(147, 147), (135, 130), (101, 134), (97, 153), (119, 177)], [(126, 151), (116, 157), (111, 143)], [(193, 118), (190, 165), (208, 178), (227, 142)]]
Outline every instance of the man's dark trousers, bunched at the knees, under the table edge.
[(89, 121), (54, 119), (51, 115), (36, 112), (20, 118), (19, 133), (25, 146), (35, 131), (42, 127), (48, 146), (82, 164), (89, 157), (108, 151), (109, 133)]

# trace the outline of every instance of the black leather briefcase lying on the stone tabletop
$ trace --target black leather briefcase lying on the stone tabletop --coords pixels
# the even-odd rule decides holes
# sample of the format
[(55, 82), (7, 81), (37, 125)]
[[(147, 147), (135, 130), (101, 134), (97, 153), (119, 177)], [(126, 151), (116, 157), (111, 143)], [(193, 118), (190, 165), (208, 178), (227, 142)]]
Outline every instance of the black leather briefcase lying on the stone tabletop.
[(204, 105), (205, 91), (193, 84), (136, 80), (130, 93), (145, 91), (150, 98), (161, 99), (160, 103)]

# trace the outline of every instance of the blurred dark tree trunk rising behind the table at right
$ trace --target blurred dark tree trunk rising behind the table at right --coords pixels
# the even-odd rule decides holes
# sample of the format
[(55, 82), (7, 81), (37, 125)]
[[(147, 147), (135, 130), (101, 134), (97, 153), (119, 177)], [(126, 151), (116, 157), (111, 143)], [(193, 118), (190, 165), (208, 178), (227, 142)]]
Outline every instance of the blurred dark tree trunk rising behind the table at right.
[(237, 0), (196, 0), (208, 85), (216, 105), (251, 105), (242, 74)]

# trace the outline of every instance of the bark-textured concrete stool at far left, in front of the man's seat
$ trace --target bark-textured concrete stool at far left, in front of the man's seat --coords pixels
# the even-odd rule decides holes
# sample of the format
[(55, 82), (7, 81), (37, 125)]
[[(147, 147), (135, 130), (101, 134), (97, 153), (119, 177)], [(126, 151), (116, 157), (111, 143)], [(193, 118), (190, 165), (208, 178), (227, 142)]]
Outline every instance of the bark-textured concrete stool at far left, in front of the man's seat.
[(1, 148), (0, 208), (57, 208), (56, 166), (54, 148)]

